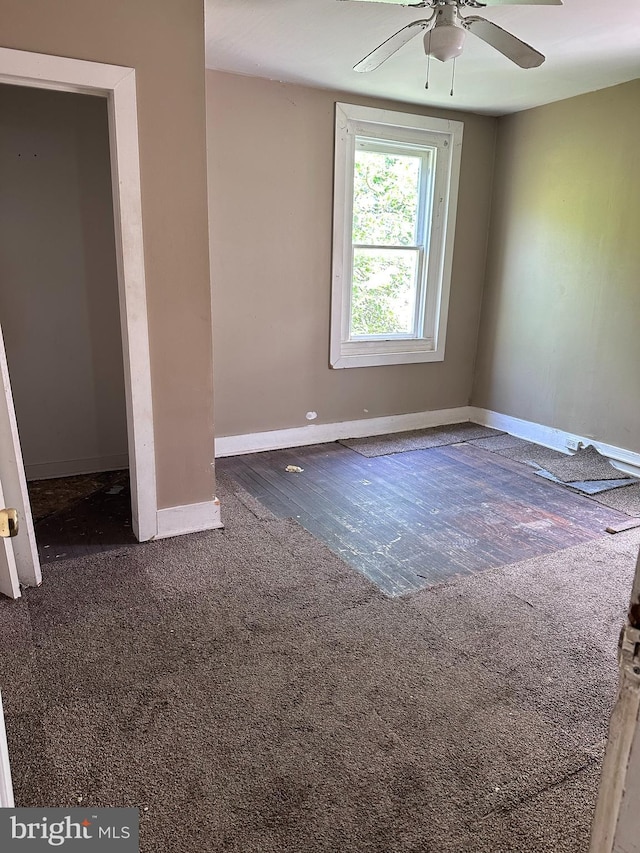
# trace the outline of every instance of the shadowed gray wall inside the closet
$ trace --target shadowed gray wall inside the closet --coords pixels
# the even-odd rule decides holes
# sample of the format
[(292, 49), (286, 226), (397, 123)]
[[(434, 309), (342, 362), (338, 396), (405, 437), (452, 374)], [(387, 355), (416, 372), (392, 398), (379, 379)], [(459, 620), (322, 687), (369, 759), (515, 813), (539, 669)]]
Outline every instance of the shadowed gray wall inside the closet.
[(0, 86), (0, 324), (27, 476), (127, 465), (106, 100)]

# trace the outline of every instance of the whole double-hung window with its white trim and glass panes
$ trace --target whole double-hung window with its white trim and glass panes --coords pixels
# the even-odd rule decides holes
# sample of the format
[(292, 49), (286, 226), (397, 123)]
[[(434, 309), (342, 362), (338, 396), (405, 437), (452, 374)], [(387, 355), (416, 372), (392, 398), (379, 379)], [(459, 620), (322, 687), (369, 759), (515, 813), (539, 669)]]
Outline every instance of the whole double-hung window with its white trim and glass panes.
[(331, 364), (444, 358), (462, 124), (338, 104)]

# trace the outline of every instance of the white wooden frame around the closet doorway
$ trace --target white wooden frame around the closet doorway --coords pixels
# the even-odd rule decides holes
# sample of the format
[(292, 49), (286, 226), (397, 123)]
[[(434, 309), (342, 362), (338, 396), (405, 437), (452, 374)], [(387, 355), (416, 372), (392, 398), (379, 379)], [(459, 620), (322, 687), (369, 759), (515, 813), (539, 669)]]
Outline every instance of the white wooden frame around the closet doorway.
[(0, 48), (0, 82), (107, 98), (133, 530), (157, 534), (151, 364), (133, 68)]

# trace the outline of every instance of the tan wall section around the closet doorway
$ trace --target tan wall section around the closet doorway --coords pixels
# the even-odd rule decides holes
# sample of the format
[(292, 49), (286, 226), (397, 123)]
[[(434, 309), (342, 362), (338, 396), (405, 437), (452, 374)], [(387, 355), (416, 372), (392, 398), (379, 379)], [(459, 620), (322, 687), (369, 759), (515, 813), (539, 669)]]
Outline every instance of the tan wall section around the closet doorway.
[(136, 69), (161, 507), (214, 490), (202, 0), (0, 0), (4, 47)]

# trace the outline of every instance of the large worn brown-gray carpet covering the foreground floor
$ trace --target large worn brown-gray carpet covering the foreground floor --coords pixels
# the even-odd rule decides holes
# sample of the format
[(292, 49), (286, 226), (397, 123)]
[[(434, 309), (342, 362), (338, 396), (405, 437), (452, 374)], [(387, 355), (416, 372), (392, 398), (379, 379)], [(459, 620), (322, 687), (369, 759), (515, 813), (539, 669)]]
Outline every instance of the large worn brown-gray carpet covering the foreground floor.
[(219, 494), (0, 602), (19, 805), (138, 806), (143, 853), (587, 849), (639, 531), (392, 600)]

